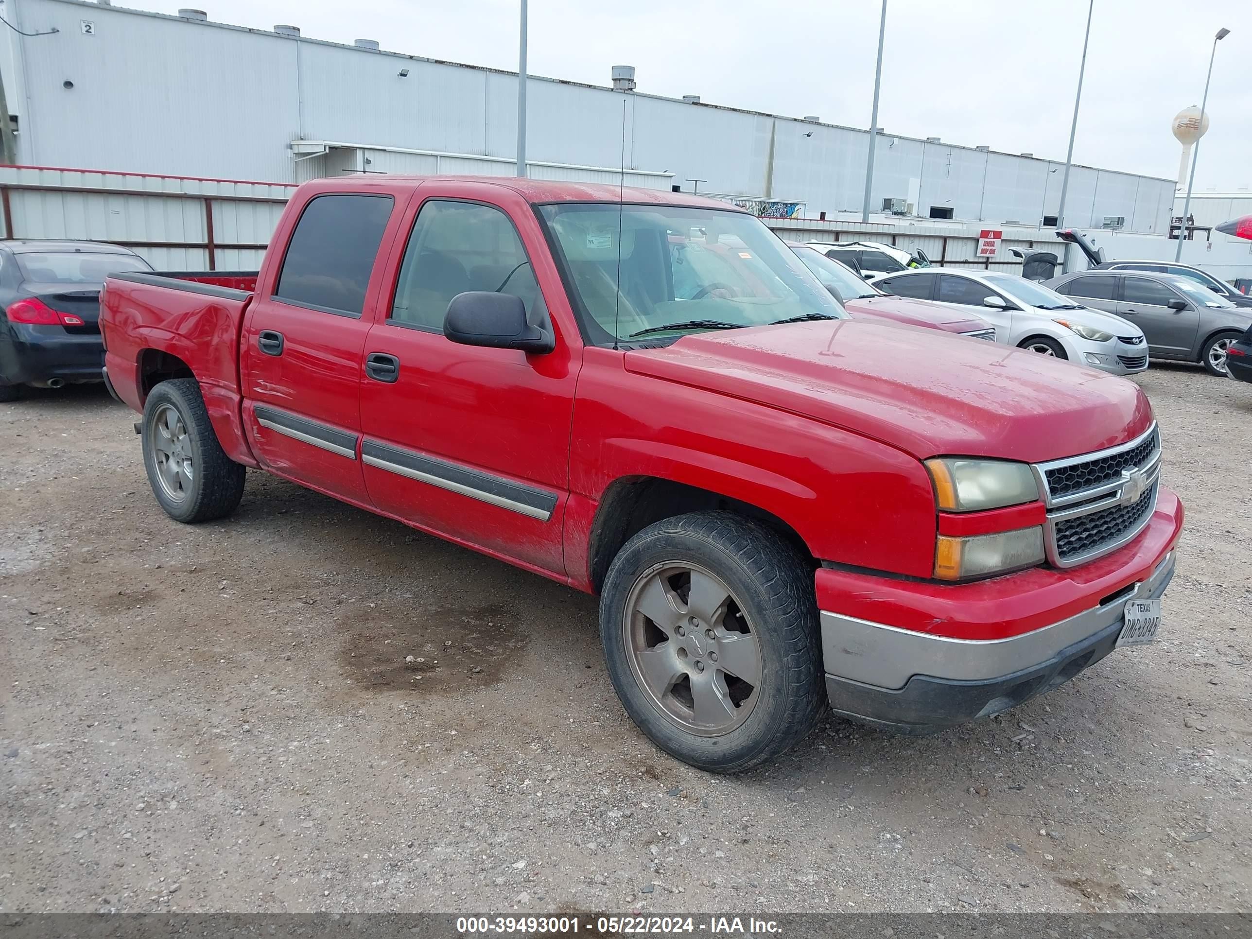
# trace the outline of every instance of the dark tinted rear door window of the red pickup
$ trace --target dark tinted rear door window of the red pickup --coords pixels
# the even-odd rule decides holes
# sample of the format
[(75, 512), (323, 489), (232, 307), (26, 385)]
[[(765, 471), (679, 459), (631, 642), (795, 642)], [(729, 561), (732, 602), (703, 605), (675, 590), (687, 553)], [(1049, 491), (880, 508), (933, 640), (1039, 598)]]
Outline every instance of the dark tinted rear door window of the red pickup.
[(393, 202), (389, 195), (310, 199), (287, 245), (274, 297), (359, 317)]

